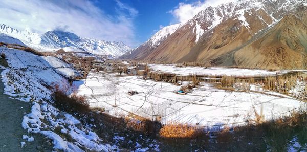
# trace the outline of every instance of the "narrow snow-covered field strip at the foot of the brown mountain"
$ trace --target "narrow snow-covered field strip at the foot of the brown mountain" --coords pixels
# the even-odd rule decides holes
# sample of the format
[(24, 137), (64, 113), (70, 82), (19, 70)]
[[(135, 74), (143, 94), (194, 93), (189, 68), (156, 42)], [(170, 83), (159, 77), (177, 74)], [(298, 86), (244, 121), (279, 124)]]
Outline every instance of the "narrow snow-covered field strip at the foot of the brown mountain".
[(148, 64), (151, 71), (178, 75), (228, 75), (228, 76), (267, 76), (287, 73), (286, 71), (267, 71), (239, 68), (203, 68), (203, 67), (176, 67), (176, 64)]

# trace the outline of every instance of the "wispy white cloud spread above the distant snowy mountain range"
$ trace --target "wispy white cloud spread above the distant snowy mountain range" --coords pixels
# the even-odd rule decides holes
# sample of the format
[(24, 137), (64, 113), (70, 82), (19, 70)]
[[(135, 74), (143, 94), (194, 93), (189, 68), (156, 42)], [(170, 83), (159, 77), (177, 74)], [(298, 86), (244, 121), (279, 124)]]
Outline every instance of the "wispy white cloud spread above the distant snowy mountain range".
[(133, 19), (138, 11), (118, 0), (116, 3), (116, 14), (109, 15), (90, 1), (3, 0), (0, 5), (0, 23), (39, 33), (66, 30), (81, 37), (123, 41), (133, 46)]

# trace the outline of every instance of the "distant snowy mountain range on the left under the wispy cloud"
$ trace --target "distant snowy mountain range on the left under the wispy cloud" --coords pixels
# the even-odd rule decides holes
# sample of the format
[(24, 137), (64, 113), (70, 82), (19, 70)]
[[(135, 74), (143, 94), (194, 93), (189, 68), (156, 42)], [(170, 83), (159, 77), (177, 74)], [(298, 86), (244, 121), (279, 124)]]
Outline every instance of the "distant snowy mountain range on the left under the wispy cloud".
[[(63, 31), (48, 31), (45, 34), (31, 33), (11, 28), (7, 25), (0, 25), (0, 41), (8, 36), (19, 39), (23, 44), (38, 51), (74, 51), (89, 52), (95, 55), (107, 55), (118, 58), (131, 48), (117, 41), (104, 41), (91, 38), (81, 38), (80, 36)], [(8, 35), (8, 36), (6, 36)], [(6, 37), (6, 38), (5, 38)], [(13, 42), (13, 41), (12, 41)]]

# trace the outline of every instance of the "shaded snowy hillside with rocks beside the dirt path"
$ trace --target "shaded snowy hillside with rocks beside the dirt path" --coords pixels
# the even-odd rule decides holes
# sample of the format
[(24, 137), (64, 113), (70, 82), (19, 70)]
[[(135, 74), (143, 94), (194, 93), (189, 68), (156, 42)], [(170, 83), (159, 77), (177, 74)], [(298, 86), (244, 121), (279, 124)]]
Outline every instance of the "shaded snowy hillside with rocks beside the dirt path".
[[(50, 103), (52, 82), (65, 81), (64, 76), (78, 74), (68, 64), (55, 57), (41, 57), (31, 53), (0, 47), (7, 56), (10, 68), (2, 72), (5, 94), (31, 102), (31, 112), (24, 116), (22, 127), (29, 133), (40, 133), (53, 140), (54, 149), (63, 151), (113, 151), (116, 146), (104, 144), (87, 126), (72, 115), (60, 112)], [(44, 85), (47, 84), (47, 85)], [(69, 135), (69, 142), (55, 133)]]

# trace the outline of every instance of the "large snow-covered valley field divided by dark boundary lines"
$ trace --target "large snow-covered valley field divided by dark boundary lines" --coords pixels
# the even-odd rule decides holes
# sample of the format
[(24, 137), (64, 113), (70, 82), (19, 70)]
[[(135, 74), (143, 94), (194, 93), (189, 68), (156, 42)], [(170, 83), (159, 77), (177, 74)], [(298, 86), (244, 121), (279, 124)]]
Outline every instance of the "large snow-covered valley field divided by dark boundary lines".
[[(243, 123), (255, 118), (261, 109), (266, 120), (289, 114), (302, 102), (275, 92), (235, 92), (201, 83), (187, 95), (176, 94), (180, 86), (144, 80), (139, 76), (115, 77), (112, 73), (90, 73), (76, 81), (78, 94), (85, 95), (92, 107), (104, 108), (112, 115), (133, 113), (149, 119), (162, 116), (163, 123), (220, 126)], [(255, 87), (254, 87), (255, 88)], [(129, 90), (139, 94), (130, 96)], [(259, 89), (257, 89), (258, 91)]]

